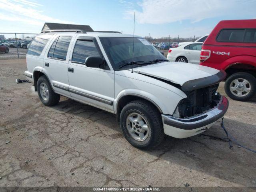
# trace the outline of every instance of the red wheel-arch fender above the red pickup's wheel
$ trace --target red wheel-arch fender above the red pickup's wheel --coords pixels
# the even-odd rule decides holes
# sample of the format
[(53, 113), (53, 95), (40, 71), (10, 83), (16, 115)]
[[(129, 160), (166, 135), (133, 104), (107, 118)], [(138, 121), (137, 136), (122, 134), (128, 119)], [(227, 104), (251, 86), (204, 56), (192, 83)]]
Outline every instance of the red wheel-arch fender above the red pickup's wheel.
[(222, 62), (221, 66), (223, 70), (226, 70), (227, 68), (235, 64), (249, 64), (254, 66), (256, 70), (256, 57), (249, 55), (234, 56)]

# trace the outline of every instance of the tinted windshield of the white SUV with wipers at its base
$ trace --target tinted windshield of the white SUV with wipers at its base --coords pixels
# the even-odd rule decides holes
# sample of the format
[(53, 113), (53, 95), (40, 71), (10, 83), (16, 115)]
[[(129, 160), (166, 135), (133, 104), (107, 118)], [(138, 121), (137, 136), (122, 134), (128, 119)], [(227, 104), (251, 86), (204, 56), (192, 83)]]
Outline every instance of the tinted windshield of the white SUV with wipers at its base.
[[(112, 64), (114, 70), (130, 69), (141, 65), (127, 65), (123, 68), (120, 66), (132, 62), (132, 54), (134, 54), (134, 62), (149, 62), (152, 60), (166, 60), (166, 58), (144, 38), (100, 38), (106, 54)], [(153, 64), (153, 63), (152, 63)]]

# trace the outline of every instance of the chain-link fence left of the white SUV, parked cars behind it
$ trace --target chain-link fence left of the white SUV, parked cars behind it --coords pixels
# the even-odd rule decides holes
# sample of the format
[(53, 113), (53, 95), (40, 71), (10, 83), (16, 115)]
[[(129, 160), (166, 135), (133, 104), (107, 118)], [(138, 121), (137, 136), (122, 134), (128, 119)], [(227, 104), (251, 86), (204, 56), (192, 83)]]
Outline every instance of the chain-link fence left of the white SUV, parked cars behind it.
[(0, 60), (26, 58), (28, 45), (36, 33), (0, 32)]

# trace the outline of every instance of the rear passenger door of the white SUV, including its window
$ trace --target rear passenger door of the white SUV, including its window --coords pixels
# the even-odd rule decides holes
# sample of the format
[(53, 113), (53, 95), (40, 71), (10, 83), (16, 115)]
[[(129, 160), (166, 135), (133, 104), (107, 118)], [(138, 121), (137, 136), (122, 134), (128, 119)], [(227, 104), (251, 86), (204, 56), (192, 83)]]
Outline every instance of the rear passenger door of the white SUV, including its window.
[(72, 35), (58, 35), (44, 55), (44, 68), (55, 92), (70, 96), (68, 92), (68, 57)]

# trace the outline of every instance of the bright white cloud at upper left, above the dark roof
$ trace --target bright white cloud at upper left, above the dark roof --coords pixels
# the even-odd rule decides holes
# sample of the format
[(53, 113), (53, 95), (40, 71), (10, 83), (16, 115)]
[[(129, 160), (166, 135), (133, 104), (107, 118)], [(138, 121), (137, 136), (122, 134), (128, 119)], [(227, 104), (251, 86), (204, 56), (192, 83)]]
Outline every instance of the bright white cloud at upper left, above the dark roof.
[(41, 4), (29, 0), (1, 0), (0, 20), (23, 22), (43, 26), (44, 22), (69, 23), (74, 22), (56, 19), (42, 13)]

